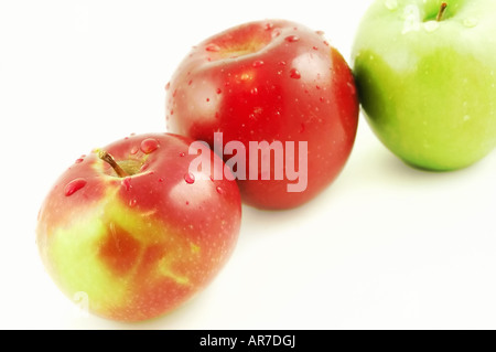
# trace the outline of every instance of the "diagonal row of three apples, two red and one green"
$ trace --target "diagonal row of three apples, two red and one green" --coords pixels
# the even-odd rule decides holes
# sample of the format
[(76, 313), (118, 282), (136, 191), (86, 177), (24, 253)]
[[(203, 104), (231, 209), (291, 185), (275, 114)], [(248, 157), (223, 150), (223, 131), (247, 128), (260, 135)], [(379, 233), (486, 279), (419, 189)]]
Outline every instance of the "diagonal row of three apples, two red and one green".
[[(376, 1), (358, 30), (353, 73), (322, 32), (283, 20), (200, 43), (166, 85), (176, 135), (94, 150), (51, 190), (36, 228), (47, 271), (68, 297), (85, 292), (101, 317), (171, 311), (227, 263), (241, 200), (290, 209), (332, 183), (355, 142), (359, 103), (380, 140), (414, 167), (445, 171), (482, 159), (496, 146), (487, 32), (496, 4), (472, 2)], [(294, 182), (302, 186), (290, 191)]]

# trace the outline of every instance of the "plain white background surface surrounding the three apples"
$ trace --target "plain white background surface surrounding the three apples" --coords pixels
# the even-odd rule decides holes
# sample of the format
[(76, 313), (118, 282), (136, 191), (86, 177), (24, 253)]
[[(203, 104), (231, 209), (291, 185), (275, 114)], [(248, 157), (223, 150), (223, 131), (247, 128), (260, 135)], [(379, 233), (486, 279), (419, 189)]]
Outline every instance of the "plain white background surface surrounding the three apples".
[(363, 116), (338, 180), (296, 210), (245, 206), (231, 260), (166, 317), (80, 314), (42, 267), (34, 228), (51, 185), (93, 148), (163, 131), (164, 86), (191, 46), (281, 18), (325, 31), (349, 62), (369, 3), (1, 1), (0, 328), (495, 329), (496, 152), (413, 170)]

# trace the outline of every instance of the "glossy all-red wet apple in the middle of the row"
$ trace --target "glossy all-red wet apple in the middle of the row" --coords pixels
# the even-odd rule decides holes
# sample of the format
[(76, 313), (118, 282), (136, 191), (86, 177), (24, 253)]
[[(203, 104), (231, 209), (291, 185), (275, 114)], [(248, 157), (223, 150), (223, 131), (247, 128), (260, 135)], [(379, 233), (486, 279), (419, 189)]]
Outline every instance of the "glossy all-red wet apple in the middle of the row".
[(259, 209), (299, 206), (332, 183), (351, 154), (358, 111), (342, 55), (322, 33), (283, 20), (241, 24), (205, 40), (166, 85), (173, 132), (211, 147), (214, 132), (223, 132), (224, 146), (236, 140), (247, 150), (249, 141), (308, 141), (303, 192), (288, 192), (295, 182), (285, 173), (274, 180), (273, 158), (270, 180), (238, 182), (244, 202)]

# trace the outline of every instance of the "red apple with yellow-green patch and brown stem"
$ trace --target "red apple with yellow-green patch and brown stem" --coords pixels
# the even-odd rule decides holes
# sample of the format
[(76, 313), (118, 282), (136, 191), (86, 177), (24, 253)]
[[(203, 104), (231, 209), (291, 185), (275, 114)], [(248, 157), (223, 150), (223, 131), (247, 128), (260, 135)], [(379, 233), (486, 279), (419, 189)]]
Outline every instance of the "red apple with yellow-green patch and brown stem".
[(36, 243), (69, 298), (84, 294), (98, 316), (140, 321), (179, 307), (223, 268), (239, 233), (239, 190), (191, 172), (190, 145), (168, 134), (131, 136), (77, 159), (58, 179)]

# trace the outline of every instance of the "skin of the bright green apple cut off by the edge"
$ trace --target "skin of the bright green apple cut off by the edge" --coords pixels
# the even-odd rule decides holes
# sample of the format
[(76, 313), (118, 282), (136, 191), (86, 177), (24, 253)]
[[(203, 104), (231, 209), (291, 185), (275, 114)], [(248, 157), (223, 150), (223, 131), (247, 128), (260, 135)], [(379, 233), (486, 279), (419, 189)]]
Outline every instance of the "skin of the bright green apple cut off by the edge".
[(388, 149), (433, 171), (494, 149), (495, 33), (494, 0), (378, 0), (368, 9), (352, 60), (365, 116)]

